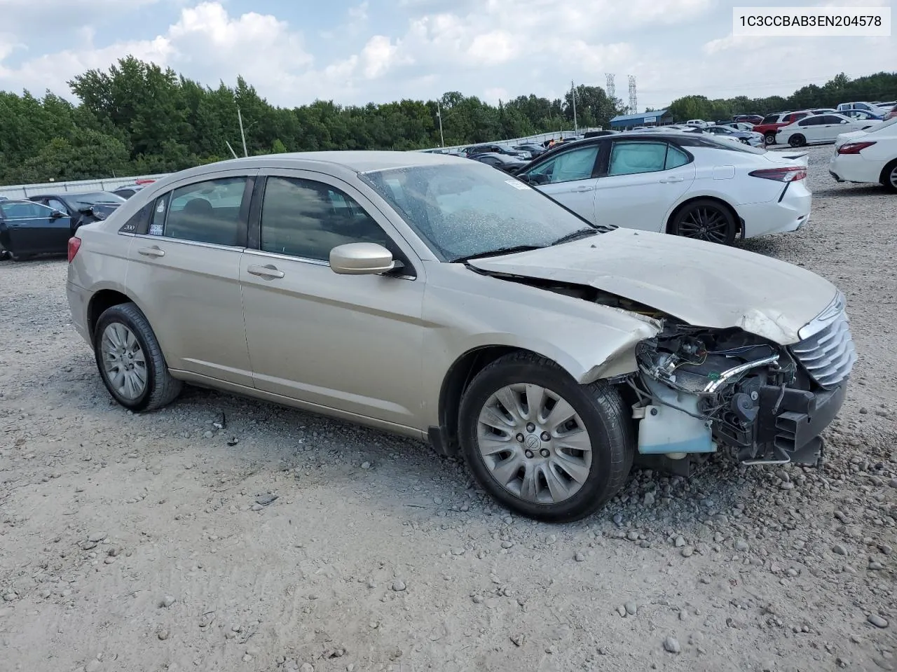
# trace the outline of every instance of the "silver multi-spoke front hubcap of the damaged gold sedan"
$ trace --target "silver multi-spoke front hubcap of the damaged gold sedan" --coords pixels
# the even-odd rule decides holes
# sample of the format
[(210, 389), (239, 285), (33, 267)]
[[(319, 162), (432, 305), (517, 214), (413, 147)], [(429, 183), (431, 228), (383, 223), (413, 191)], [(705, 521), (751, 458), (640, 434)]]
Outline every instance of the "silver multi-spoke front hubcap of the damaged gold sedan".
[(569, 499), (592, 466), (582, 418), (559, 394), (531, 383), (492, 394), (480, 410), (477, 444), (492, 478), (534, 504)]

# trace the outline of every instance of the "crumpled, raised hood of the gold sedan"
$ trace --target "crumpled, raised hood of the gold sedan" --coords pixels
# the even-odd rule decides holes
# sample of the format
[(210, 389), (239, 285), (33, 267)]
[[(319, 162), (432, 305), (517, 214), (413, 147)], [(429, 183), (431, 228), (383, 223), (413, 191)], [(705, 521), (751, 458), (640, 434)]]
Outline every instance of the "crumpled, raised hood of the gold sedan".
[(800, 340), (797, 332), (837, 293), (815, 273), (762, 254), (629, 228), (468, 263), (590, 285), (695, 326), (740, 327), (780, 345)]

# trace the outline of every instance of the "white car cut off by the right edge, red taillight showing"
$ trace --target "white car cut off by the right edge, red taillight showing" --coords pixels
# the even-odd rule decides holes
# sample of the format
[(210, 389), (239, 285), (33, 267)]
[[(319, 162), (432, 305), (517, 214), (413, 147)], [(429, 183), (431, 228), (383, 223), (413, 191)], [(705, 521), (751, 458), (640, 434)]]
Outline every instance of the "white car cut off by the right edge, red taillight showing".
[(881, 183), (897, 192), (897, 117), (838, 136), (829, 173), (839, 182)]

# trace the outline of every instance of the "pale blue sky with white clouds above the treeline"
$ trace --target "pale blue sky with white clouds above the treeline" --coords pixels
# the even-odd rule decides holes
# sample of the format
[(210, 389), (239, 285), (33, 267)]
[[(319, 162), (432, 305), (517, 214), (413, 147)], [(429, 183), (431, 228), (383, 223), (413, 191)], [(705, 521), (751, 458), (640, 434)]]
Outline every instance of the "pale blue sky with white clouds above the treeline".
[[(897, 67), (897, 38), (733, 38), (725, 0), (0, 0), (0, 89), (53, 90), (133, 54), (269, 101), (559, 97), (615, 73), (639, 108), (788, 95)], [(766, 2), (774, 5), (776, 2)], [(780, 3), (779, 3), (780, 4)], [(791, 0), (790, 5), (811, 4)], [(892, 5), (890, 0), (812, 4)], [(897, 13), (895, 13), (897, 14)]]

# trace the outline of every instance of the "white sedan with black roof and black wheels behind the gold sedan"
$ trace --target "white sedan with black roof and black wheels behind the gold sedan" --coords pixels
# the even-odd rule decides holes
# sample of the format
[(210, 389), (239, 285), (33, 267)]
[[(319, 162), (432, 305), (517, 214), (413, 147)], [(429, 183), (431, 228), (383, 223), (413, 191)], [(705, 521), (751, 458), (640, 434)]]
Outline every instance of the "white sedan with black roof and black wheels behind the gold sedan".
[(795, 231), (812, 195), (806, 153), (707, 134), (619, 134), (574, 142), (518, 177), (588, 221), (730, 245)]

